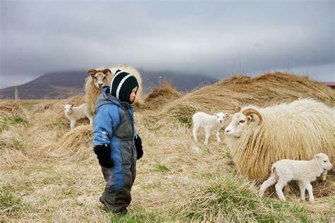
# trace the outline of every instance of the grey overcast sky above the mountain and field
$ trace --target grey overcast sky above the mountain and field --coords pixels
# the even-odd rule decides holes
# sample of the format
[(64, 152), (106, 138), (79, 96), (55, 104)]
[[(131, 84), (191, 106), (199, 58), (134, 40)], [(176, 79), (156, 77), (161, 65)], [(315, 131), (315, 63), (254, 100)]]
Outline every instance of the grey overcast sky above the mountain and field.
[(119, 63), (335, 81), (333, 0), (0, 2), (0, 88)]

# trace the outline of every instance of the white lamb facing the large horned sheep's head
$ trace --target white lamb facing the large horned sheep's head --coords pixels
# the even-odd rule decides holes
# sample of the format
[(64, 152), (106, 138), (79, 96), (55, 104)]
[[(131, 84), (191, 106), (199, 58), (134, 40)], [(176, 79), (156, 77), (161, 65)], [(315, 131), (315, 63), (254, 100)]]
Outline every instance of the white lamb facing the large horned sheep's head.
[(225, 119), (229, 116), (227, 113), (216, 113), (214, 115), (206, 114), (204, 112), (197, 112), (192, 116), (193, 120), (193, 138), (198, 143), (197, 133), (199, 127), (205, 129), (206, 138), (205, 144), (208, 144), (209, 136), (211, 131), (216, 131), (216, 141), (221, 143), (219, 131), (223, 127)]

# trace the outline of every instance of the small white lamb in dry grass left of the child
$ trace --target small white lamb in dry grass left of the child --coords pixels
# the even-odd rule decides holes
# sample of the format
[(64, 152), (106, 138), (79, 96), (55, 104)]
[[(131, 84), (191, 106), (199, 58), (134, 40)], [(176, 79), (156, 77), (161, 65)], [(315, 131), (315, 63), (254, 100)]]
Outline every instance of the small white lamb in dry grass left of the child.
[(88, 118), (90, 119), (90, 125), (93, 123), (93, 116), (90, 113), (90, 108), (88, 104), (84, 103), (79, 105), (78, 107), (74, 107), (74, 104), (65, 104), (64, 106), (64, 114), (66, 118), (71, 121), (71, 130), (74, 129), (76, 125), (76, 121), (78, 119)]

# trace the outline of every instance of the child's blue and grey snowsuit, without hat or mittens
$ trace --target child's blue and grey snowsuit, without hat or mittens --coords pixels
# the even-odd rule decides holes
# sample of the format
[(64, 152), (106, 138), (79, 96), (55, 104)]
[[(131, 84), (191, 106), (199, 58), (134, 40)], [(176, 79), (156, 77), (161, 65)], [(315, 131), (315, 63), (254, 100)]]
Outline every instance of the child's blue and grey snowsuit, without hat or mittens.
[[(131, 202), (131, 186), (136, 177), (134, 113), (131, 104), (120, 102), (105, 86), (95, 102), (93, 147), (109, 145), (114, 167), (102, 167), (106, 181), (103, 200), (119, 212)], [(101, 199), (101, 198), (100, 198)]]

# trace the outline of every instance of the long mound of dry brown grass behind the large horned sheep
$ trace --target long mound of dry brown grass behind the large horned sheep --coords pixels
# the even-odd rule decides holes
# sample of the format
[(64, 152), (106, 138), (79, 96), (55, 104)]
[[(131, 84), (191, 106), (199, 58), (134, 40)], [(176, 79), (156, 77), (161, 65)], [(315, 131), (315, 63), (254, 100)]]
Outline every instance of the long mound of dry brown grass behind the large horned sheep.
[(255, 104), (266, 107), (282, 102), (292, 102), (298, 98), (315, 98), (325, 104), (335, 106), (335, 91), (311, 80), (307, 76), (290, 73), (265, 73), (250, 78), (232, 76), (213, 85), (205, 86), (165, 105), (151, 117), (171, 120), (180, 116), (181, 122), (191, 126), (194, 111), (208, 114), (218, 111), (237, 112), (240, 107)]

